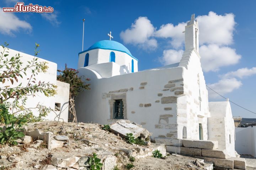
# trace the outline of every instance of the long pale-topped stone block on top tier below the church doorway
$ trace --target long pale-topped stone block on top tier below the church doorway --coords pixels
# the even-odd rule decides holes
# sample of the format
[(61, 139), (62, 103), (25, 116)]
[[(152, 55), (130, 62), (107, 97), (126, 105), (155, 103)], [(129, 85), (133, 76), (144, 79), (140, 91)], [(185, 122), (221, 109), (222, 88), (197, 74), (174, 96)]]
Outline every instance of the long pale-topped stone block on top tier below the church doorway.
[(184, 147), (187, 148), (201, 148), (201, 149), (217, 149), (218, 141), (210, 141), (210, 140), (183, 140)]

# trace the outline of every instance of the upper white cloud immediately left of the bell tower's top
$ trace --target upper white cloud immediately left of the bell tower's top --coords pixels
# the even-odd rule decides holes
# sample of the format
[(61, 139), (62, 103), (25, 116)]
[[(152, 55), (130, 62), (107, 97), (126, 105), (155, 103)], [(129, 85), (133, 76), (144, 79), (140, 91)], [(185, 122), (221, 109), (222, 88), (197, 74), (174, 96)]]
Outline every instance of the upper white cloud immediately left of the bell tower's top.
[(184, 43), (184, 33), (185, 26), (187, 23), (178, 23), (177, 26), (174, 26), (172, 23), (162, 25), (159, 30), (155, 32), (156, 37), (160, 38), (172, 38), (171, 45), (174, 48), (179, 48)]

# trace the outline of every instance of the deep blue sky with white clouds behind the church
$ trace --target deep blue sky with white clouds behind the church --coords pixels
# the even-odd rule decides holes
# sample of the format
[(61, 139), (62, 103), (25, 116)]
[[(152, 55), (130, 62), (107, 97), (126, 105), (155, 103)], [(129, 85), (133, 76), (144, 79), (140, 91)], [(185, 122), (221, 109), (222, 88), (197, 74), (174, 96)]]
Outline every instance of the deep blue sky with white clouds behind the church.
[[(0, 7), (17, 1), (0, 0)], [(139, 70), (178, 62), (184, 50), (183, 26), (195, 13), (199, 22), (199, 53), (207, 85), (231, 101), (256, 112), (256, 1), (24, 1), (52, 6), (52, 14), (0, 12), (0, 40), (11, 49), (76, 68), (82, 51), (99, 40), (124, 44), (139, 60)], [(212, 12), (210, 12), (212, 11)], [(223, 100), (209, 91), (210, 101)], [(256, 115), (231, 104), (233, 115)]]

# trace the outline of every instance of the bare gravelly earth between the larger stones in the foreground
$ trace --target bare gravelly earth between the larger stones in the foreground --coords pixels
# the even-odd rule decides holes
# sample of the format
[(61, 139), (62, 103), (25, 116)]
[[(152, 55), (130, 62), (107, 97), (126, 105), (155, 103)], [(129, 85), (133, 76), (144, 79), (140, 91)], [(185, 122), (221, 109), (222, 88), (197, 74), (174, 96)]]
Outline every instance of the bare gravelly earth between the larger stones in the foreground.
[[(1, 126), (1, 125), (0, 125)], [(69, 137), (70, 146), (62, 148), (47, 149), (44, 144), (39, 148), (33, 148), (31, 145), (18, 146), (1, 146), (0, 145), (0, 164), (6, 164), (10, 170), (15, 169), (42, 169), (44, 165), (50, 164), (51, 154), (61, 155), (75, 155), (82, 157), (85, 155), (91, 155), (93, 152), (97, 154), (115, 155), (118, 158), (119, 169), (124, 169), (124, 165), (129, 162), (128, 157), (120, 153), (119, 149), (136, 149), (137, 145), (130, 145), (126, 143), (121, 137), (107, 132), (101, 129), (98, 124), (85, 124), (85, 123), (64, 123), (64, 128), (68, 132), (63, 133), (64, 128), (62, 122), (56, 121), (44, 121), (37, 123), (30, 123), (27, 126), (28, 131), (39, 129), (42, 132), (50, 131), (54, 135), (66, 135)], [(81, 138), (91, 141), (91, 143), (85, 143), (83, 141), (76, 140), (75, 138)], [(37, 140), (37, 139), (34, 139)], [(12, 163), (6, 158), (13, 156), (20, 159), (18, 163)], [(199, 170), (199, 168), (192, 162), (195, 158), (186, 156), (169, 155), (166, 159), (158, 159), (153, 157), (146, 157), (136, 159), (133, 164), (134, 170)], [(18, 168), (20, 167), (20, 168)], [(59, 168), (62, 169), (62, 168)], [(0, 168), (0, 170), (2, 170)], [(64, 169), (63, 169), (64, 170)]]

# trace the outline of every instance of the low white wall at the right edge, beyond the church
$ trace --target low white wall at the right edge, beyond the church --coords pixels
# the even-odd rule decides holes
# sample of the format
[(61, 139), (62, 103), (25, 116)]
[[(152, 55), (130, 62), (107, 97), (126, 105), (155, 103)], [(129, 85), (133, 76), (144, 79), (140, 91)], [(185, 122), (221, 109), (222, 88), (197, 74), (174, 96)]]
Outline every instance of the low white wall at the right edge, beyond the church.
[(256, 126), (235, 128), (235, 150), (238, 154), (250, 154), (256, 157)]

